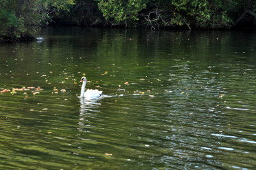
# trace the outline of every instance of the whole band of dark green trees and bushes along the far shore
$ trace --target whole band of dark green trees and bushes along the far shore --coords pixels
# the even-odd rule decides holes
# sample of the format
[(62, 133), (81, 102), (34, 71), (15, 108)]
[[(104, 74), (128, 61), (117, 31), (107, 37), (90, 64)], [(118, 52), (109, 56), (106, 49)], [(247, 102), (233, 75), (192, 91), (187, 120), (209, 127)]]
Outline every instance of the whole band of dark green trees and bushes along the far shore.
[(40, 27), (234, 29), (256, 27), (254, 0), (0, 0), (0, 41), (29, 41)]

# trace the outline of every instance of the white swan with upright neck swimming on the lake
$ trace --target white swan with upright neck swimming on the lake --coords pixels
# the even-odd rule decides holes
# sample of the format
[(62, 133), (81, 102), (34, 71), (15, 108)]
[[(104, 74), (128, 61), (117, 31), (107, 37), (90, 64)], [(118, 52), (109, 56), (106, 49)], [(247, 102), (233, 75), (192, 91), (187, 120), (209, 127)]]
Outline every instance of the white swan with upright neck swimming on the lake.
[(87, 98), (100, 97), (102, 95), (102, 91), (92, 90), (92, 89), (88, 89), (85, 91), (86, 81), (87, 81), (86, 77), (81, 78), (80, 83), (83, 82), (83, 85), (82, 85), (80, 97), (87, 97)]

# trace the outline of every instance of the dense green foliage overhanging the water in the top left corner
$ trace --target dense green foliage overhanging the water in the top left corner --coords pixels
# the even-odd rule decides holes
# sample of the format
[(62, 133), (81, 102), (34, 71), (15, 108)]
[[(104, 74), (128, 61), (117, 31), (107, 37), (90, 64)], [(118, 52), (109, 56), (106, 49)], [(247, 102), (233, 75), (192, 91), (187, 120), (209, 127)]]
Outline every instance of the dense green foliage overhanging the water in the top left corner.
[(73, 0), (0, 0), (0, 39), (33, 39), (38, 26), (47, 24), (52, 11), (68, 10)]

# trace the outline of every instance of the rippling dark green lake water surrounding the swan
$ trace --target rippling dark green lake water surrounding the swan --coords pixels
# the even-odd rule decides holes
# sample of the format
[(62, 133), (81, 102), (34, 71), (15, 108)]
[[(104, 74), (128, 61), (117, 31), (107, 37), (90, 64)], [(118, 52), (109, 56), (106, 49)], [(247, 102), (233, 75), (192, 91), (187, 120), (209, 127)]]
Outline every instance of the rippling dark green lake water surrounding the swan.
[(0, 44), (0, 91), (43, 89), (0, 93), (0, 169), (255, 169), (255, 31), (40, 36)]

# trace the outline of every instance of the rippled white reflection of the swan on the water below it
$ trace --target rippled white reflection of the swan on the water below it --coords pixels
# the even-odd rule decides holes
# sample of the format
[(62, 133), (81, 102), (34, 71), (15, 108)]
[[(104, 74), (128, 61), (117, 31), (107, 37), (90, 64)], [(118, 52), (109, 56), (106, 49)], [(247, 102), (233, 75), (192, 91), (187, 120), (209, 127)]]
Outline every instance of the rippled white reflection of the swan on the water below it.
[(97, 112), (101, 106), (100, 103), (101, 97), (97, 99), (88, 99), (80, 97), (80, 112), (79, 112), (79, 131), (88, 131), (91, 125), (92, 118), (97, 117)]

